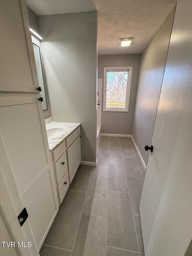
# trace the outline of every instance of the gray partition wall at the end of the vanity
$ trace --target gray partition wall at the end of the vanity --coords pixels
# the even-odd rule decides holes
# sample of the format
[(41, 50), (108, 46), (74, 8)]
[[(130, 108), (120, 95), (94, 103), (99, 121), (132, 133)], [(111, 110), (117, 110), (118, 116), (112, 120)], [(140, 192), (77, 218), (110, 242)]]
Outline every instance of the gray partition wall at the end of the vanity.
[(53, 120), (81, 123), (82, 161), (96, 161), (97, 11), (38, 16)]

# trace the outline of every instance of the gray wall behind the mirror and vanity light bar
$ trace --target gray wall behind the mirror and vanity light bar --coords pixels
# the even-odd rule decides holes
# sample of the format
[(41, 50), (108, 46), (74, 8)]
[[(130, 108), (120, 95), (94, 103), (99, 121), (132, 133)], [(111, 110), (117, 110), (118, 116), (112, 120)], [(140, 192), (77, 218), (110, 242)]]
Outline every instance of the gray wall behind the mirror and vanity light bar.
[[(29, 8), (29, 6), (27, 6), (27, 11), (28, 11), (28, 15), (29, 15), (30, 27), (39, 33), (37, 15), (32, 11), (32, 9)], [(51, 108), (50, 108), (50, 103), (49, 103), (49, 93), (48, 93), (48, 89), (47, 89), (47, 85), (46, 85), (46, 77), (44, 77), (44, 81), (45, 81), (47, 110), (44, 110), (43, 113), (44, 113), (44, 118), (47, 118), (47, 117), (51, 116)]]

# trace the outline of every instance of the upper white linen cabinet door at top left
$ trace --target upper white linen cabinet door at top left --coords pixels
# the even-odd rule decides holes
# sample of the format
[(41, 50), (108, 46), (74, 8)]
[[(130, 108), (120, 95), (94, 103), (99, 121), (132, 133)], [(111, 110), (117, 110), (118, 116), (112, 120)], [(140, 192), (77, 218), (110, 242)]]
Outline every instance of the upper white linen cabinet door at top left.
[(29, 18), (26, 15), (26, 1), (1, 0), (0, 5), (0, 90), (37, 92), (38, 77), (29, 31)]

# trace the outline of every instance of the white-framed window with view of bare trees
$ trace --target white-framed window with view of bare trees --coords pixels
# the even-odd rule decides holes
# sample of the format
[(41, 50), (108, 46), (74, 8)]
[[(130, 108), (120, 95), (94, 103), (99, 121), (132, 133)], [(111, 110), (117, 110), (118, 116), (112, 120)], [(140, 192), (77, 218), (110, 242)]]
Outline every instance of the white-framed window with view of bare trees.
[(103, 111), (128, 112), (132, 69), (104, 68)]

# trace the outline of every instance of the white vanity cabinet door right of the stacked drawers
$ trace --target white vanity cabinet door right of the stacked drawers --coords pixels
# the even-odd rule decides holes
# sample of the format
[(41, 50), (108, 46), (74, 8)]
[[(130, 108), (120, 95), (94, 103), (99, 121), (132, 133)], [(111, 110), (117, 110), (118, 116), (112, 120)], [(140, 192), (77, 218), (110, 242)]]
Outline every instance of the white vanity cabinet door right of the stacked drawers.
[(69, 181), (70, 183), (75, 176), (75, 173), (81, 163), (81, 140), (78, 136), (73, 144), (67, 149)]

